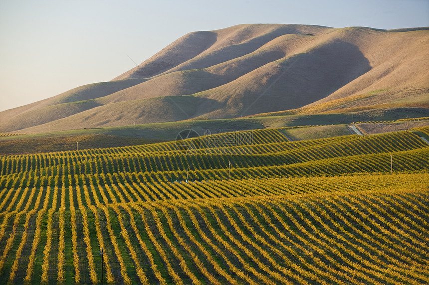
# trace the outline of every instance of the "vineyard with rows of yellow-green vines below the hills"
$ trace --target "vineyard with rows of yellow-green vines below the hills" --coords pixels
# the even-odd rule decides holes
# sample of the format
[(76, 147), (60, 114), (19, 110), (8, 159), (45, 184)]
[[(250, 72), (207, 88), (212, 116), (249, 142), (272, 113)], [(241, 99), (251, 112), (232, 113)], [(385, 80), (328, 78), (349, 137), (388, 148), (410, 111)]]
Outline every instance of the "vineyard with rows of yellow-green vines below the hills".
[(428, 169), (412, 132), (1, 156), (0, 284), (428, 284)]

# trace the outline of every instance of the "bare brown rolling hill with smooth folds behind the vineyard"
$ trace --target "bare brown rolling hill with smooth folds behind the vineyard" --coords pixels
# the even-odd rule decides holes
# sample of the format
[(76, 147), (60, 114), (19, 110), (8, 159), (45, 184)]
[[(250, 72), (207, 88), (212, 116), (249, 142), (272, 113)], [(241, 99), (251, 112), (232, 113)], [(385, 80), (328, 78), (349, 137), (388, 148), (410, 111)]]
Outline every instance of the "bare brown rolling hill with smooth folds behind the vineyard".
[(303, 107), (317, 113), (317, 106), (349, 97), (358, 100), (329, 110), (428, 109), (428, 49), (428, 28), (243, 24), (192, 32), (110, 82), (0, 112), (0, 131), (239, 118)]

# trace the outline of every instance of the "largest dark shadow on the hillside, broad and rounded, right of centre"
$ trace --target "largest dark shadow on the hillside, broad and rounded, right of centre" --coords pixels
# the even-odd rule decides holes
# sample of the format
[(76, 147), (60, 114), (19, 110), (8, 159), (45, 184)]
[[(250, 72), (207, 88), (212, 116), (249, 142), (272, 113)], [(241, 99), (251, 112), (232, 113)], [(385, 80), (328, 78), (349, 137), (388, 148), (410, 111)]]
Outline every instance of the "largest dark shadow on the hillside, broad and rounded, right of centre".
[(303, 107), (323, 99), (371, 70), (349, 42), (335, 40), (278, 62), (264, 86), (244, 97), (241, 116)]

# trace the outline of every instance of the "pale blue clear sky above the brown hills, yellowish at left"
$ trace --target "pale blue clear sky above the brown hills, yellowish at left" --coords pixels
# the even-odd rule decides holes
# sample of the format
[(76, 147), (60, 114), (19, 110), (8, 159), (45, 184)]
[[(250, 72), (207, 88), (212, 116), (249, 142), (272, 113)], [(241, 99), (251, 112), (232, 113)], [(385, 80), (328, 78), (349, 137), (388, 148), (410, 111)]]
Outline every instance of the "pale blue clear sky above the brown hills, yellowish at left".
[(0, 111), (110, 81), (193, 31), (429, 26), (429, 0), (0, 0)]

